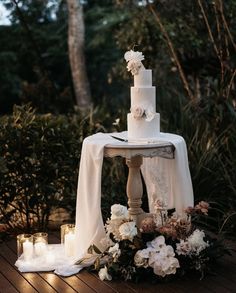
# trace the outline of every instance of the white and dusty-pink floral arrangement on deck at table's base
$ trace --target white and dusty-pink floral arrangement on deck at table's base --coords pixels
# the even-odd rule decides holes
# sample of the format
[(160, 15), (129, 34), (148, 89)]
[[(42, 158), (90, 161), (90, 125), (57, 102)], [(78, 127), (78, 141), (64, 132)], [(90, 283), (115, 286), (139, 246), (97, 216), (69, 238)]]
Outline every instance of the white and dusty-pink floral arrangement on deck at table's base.
[(208, 264), (224, 252), (222, 244), (194, 225), (194, 219), (207, 216), (208, 209), (209, 204), (201, 201), (179, 216), (169, 214), (158, 200), (155, 213), (144, 218), (138, 228), (125, 206), (113, 205), (105, 225), (106, 238), (102, 239), (107, 249), (101, 252), (92, 245), (88, 250), (100, 279), (139, 281), (146, 276), (160, 281), (190, 270), (203, 277)]

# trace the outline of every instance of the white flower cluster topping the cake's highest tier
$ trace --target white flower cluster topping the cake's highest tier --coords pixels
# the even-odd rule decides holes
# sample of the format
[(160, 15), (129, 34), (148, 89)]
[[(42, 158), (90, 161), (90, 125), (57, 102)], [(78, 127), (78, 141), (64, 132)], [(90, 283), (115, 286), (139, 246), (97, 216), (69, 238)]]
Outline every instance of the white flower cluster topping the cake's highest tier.
[(144, 56), (142, 52), (138, 51), (127, 51), (124, 55), (125, 61), (127, 62), (127, 69), (131, 71), (133, 75), (137, 75), (140, 68), (143, 68), (142, 60), (144, 60)]

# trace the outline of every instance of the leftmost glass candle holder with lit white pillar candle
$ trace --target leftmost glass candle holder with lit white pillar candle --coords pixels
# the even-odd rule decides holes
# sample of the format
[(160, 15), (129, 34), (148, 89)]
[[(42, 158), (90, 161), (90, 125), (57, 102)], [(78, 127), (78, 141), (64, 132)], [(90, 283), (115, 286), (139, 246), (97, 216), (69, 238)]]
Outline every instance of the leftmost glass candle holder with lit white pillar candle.
[(29, 261), (34, 255), (34, 238), (31, 234), (17, 235), (17, 256), (23, 255), (24, 260)]

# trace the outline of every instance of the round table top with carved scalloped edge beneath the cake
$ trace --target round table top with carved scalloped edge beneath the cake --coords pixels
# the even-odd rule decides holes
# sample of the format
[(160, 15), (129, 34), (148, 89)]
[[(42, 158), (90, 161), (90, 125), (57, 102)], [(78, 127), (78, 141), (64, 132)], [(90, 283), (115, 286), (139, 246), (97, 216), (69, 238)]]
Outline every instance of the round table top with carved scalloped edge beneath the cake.
[(130, 159), (135, 156), (142, 157), (162, 157), (174, 159), (175, 147), (170, 142), (116, 142), (109, 143), (104, 147), (105, 157), (121, 156)]

